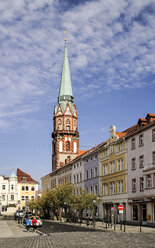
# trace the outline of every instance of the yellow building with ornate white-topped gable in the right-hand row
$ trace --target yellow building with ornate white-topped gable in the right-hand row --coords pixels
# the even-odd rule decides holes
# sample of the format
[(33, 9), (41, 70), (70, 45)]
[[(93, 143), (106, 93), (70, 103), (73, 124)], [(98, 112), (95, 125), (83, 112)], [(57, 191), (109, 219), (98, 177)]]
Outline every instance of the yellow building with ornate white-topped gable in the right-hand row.
[(103, 217), (120, 220), (118, 206), (124, 206), (123, 219), (127, 211), (127, 165), (125, 133), (116, 132), (110, 127), (107, 144), (100, 148), (100, 193), (103, 205)]

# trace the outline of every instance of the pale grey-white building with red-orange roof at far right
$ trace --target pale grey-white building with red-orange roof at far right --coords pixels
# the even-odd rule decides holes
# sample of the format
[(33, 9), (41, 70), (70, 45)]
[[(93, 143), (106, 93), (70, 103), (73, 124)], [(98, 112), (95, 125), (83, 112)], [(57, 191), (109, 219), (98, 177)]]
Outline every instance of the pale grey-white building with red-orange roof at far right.
[(127, 139), (130, 222), (155, 223), (155, 115), (147, 114)]

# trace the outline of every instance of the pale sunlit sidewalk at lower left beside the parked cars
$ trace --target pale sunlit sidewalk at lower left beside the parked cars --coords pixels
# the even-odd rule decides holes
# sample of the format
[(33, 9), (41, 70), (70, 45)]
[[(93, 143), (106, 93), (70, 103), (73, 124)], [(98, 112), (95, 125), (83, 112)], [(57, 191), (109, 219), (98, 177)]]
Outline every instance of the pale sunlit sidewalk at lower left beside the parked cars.
[(38, 236), (38, 234), (31, 229), (29, 232), (26, 232), (25, 226), (18, 224), (14, 220), (0, 221), (0, 238), (32, 236)]

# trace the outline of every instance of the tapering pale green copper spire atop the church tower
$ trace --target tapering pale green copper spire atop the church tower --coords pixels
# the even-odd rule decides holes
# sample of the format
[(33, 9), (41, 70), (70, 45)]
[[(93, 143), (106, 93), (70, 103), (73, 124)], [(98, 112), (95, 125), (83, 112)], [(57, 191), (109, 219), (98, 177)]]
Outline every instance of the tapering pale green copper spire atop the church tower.
[(65, 37), (65, 52), (64, 52), (64, 60), (63, 60), (62, 73), (61, 73), (58, 102), (60, 101), (73, 102), (73, 99), (74, 99), (73, 93), (72, 93), (72, 85), (71, 85), (71, 78), (70, 78), (66, 41), (67, 39)]

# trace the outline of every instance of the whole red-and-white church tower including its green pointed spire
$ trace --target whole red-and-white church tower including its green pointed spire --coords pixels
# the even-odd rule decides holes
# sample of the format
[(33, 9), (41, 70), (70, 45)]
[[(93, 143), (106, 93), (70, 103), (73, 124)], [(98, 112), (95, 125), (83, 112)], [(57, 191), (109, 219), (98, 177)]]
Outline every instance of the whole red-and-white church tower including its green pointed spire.
[(65, 38), (59, 96), (53, 117), (52, 171), (67, 164), (79, 151), (78, 117), (72, 93), (66, 43)]

